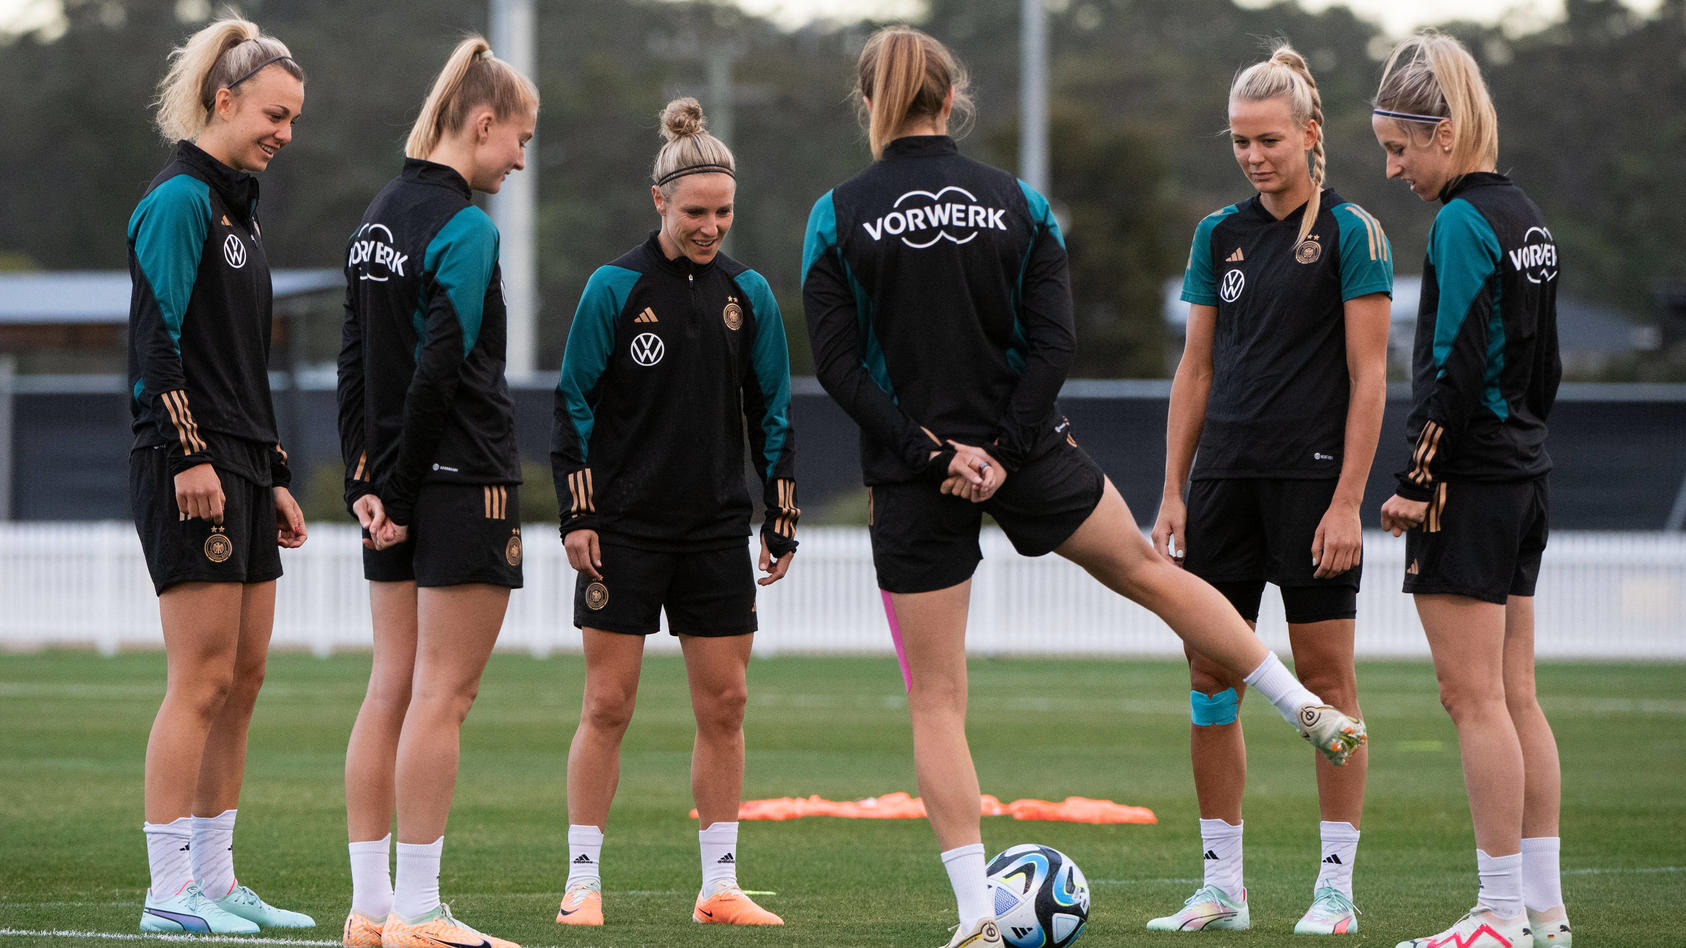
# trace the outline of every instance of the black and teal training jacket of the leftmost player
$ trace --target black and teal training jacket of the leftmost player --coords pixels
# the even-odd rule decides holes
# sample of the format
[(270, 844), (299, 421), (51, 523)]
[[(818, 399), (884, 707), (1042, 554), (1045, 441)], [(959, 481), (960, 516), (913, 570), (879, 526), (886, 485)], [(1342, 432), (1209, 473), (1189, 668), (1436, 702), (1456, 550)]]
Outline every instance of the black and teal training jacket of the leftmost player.
[(170, 472), (214, 464), (288, 486), (270, 398), (270, 261), (258, 179), (192, 142), (128, 219), (128, 385), (135, 449)]

